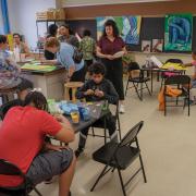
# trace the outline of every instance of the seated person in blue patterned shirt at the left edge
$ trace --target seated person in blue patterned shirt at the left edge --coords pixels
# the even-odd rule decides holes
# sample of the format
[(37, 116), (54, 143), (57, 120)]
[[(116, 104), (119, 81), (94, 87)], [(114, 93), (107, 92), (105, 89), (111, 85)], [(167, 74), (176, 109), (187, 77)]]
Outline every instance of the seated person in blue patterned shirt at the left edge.
[[(0, 88), (14, 84), (15, 78), (20, 76), (21, 68), (16, 64), (8, 49), (7, 36), (0, 35)], [(33, 88), (33, 83), (21, 78), (17, 86), (17, 96), (24, 99), (28, 89)], [(12, 85), (12, 87), (14, 87)]]

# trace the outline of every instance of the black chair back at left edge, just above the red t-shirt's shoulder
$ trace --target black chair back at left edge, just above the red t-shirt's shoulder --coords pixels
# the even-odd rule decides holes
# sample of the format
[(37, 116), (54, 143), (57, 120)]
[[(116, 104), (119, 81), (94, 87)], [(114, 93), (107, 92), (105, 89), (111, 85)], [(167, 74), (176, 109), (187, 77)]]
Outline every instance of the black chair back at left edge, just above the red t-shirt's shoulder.
[(1, 120), (4, 119), (7, 112), (12, 108), (12, 107), (15, 107), (15, 106), (23, 106), (23, 101), (20, 100), (20, 99), (15, 99), (15, 100), (12, 100), (12, 101), (9, 101), (9, 102), (5, 102), (4, 105), (2, 105), (0, 107), (0, 118)]

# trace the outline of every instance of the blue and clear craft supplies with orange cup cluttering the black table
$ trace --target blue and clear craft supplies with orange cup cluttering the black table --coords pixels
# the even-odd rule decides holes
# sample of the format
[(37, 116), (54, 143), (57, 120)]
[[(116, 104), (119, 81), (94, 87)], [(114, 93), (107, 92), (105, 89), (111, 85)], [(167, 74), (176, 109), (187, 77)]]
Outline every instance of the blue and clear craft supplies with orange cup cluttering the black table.
[[(89, 121), (90, 117), (100, 115), (102, 110), (108, 109), (108, 102), (81, 102), (72, 103), (71, 101), (59, 101), (48, 99), (48, 108), (51, 114), (63, 114), (71, 117), (72, 123), (77, 124), (79, 121)], [(97, 114), (99, 113), (99, 114)]]

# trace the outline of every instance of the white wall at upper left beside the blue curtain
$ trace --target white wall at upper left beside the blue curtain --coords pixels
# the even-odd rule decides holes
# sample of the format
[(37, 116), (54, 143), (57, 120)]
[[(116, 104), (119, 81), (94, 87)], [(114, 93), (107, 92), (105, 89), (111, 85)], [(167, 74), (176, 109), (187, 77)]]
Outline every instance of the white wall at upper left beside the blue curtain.
[[(56, 8), (56, 0), (8, 0), (10, 26), (12, 33), (25, 36), (29, 47), (36, 47), (36, 12)], [(46, 32), (46, 24), (40, 24), (40, 35)]]

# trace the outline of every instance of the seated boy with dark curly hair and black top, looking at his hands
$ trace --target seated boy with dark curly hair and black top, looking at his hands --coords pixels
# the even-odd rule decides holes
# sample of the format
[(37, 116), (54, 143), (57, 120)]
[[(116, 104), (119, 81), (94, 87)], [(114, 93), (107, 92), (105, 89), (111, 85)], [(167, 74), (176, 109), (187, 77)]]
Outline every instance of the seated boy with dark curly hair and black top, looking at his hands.
[[(117, 103), (119, 101), (118, 93), (115, 91), (112, 83), (105, 78), (106, 68), (101, 63), (94, 63), (89, 66), (90, 79), (88, 79), (83, 87), (81, 87), (77, 93), (77, 99), (85, 98), (86, 101), (100, 101), (108, 100), (109, 103)], [(103, 124), (103, 119), (99, 120)], [(97, 124), (97, 122), (96, 122)], [(112, 118), (111, 112), (106, 118), (107, 128), (109, 130), (109, 135), (111, 140), (118, 142), (118, 132), (115, 128), (115, 120)], [(85, 147), (87, 139), (88, 128), (81, 131), (78, 148), (75, 151), (76, 157), (78, 157)]]

